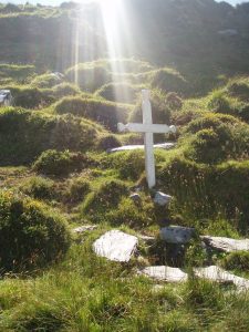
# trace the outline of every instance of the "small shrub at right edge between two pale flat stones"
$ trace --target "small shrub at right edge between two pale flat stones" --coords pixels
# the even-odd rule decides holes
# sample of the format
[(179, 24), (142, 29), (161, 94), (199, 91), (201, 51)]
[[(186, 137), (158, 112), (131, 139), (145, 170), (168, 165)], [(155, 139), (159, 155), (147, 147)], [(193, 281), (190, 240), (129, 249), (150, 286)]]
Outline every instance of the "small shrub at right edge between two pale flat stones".
[(237, 251), (231, 252), (226, 256), (220, 264), (227, 270), (241, 270), (249, 271), (249, 252), (248, 251)]

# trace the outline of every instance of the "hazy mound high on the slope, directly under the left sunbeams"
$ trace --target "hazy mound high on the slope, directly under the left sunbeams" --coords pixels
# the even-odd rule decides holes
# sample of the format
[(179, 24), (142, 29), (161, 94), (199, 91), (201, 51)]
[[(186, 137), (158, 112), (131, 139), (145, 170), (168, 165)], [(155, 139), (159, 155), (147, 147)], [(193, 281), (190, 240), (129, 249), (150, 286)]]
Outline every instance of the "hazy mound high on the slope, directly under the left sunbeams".
[(102, 65), (80, 63), (68, 69), (66, 77), (82, 90), (94, 92), (111, 81), (111, 73)]

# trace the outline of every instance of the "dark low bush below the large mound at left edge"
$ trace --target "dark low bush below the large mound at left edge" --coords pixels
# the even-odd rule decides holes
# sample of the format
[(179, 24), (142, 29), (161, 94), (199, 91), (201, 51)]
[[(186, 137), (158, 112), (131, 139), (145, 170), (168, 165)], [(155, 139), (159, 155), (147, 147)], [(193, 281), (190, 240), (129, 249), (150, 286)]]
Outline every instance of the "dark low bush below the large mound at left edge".
[(49, 149), (40, 155), (33, 169), (44, 175), (66, 176), (72, 172), (82, 170), (89, 164), (90, 159), (81, 153)]

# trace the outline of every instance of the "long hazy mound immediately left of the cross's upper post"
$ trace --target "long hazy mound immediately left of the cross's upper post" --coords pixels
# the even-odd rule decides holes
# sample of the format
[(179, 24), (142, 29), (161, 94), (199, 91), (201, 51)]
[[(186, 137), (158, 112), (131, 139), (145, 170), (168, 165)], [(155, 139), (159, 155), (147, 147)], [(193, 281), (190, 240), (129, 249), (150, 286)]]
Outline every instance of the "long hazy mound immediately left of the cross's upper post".
[(118, 122), (125, 122), (127, 108), (112, 102), (83, 98), (64, 97), (55, 105), (58, 114), (71, 113), (73, 115), (91, 118), (111, 131), (117, 129)]

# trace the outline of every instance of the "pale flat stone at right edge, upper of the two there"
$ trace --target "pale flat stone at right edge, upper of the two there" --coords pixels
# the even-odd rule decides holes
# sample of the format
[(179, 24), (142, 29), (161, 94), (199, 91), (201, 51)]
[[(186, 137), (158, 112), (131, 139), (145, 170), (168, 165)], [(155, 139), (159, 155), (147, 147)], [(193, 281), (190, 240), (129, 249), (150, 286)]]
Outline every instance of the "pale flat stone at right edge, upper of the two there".
[(201, 237), (204, 242), (209, 247), (225, 251), (225, 252), (234, 252), (234, 251), (249, 251), (249, 239), (245, 240), (235, 240), (230, 238), (222, 237)]

